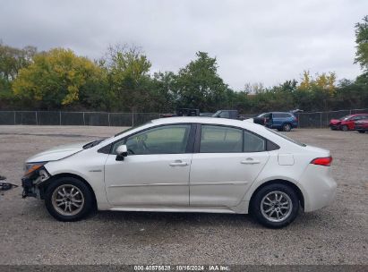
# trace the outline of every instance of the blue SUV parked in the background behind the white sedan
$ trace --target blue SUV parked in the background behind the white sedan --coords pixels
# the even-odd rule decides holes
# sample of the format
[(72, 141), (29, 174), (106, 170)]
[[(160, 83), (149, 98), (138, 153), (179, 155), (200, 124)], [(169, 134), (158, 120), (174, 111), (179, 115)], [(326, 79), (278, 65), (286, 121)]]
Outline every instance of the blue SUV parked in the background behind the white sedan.
[(292, 113), (271, 112), (253, 118), (254, 123), (265, 125), (278, 131), (290, 132), (298, 126), (298, 120)]

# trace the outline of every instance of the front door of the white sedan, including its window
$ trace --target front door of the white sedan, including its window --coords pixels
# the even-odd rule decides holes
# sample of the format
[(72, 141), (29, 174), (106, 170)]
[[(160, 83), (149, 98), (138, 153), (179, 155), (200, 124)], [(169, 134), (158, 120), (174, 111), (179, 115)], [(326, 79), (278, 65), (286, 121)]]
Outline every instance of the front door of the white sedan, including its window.
[[(115, 143), (105, 165), (107, 200), (114, 206), (188, 206), (193, 140), (191, 124), (135, 133)], [(116, 160), (125, 144), (128, 156)]]

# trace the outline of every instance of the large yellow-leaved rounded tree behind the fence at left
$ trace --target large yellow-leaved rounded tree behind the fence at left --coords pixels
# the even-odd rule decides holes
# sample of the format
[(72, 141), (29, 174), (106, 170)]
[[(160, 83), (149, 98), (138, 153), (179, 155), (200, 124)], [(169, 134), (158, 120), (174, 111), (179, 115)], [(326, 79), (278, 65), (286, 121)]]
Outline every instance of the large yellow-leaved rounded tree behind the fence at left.
[(33, 63), (13, 81), (13, 92), (24, 103), (55, 109), (82, 104), (81, 94), (101, 81), (104, 72), (96, 64), (70, 49), (56, 48), (34, 55)]

